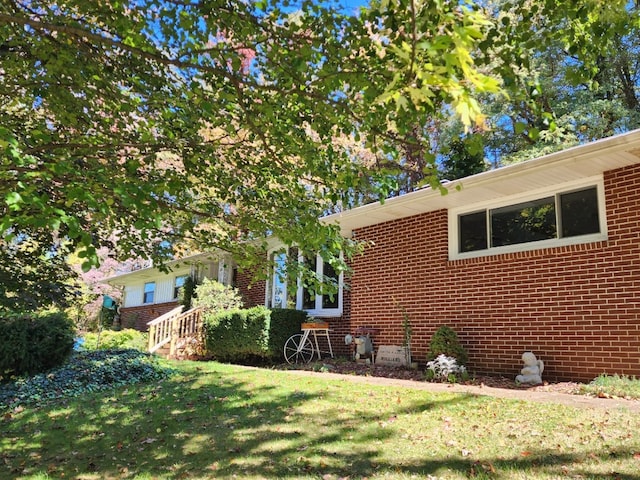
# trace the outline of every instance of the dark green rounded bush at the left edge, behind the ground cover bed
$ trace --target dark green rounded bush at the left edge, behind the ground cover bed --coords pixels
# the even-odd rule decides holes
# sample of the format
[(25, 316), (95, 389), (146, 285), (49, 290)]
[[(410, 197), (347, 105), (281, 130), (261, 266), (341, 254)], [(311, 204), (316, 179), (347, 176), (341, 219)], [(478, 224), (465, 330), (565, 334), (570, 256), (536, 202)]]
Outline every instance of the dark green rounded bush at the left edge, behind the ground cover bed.
[(74, 337), (74, 325), (64, 313), (0, 317), (0, 380), (62, 364)]

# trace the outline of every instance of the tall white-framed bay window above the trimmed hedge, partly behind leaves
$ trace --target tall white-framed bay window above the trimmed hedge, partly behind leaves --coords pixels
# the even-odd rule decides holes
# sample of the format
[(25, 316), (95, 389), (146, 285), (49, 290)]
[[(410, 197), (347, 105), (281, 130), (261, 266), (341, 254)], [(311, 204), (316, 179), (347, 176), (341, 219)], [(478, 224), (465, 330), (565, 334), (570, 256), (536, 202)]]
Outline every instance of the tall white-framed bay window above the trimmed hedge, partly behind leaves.
[[(296, 259), (304, 264), (315, 277), (290, 279), (287, 262)], [(323, 260), (320, 255), (304, 255), (297, 248), (273, 253), (274, 268), (267, 282), (267, 306), (270, 308), (296, 308), (316, 317), (333, 317), (342, 314), (343, 274)], [(322, 279), (325, 285), (317, 284)], [(311, 281), (315, 280), (315, 281)], [(332, 284), (331, 287), (326, 285)]]

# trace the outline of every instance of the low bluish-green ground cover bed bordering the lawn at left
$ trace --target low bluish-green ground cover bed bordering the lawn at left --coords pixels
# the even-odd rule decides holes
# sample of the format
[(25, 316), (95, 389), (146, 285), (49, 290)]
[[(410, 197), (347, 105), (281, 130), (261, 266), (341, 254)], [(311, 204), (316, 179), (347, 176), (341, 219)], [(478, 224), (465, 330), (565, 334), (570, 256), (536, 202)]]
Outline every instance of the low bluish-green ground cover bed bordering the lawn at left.
[(158, 363), (157, 357), (136, 350), (74, 352), (68, 362), (48, 373), (1, 383), (0, 411), (158, 381), (172, 373), (173, 370)]

